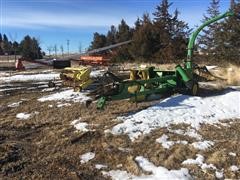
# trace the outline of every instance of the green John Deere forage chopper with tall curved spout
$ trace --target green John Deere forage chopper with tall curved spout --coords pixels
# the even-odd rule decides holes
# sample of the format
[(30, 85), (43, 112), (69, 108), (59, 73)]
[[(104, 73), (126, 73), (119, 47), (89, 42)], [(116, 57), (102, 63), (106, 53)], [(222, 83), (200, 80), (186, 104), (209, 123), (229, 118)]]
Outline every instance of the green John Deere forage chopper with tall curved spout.
[[(198, 79), (195, 71), (199, 67), (193, 63), (193, 49), (195, 40), (201, 30), (226, 17), (233, 16), (232, 11), (226, 12), (206, 21), (193, 32), (188, 43), (187, 59), (184, 65), (177, 65), (175, 71), (160, 71), (154, 67), (130, 71), (129, 80), (114, 79), (105, 85), (98, 95), (97, 107), (102, 109), (106, 101), (132, 98), (135, 101), (147, 99), (151, 94), (168, 92), (184, 92), (191, 95), (198, 93)], [(113, 76), (110, 74), (110, 76)]]

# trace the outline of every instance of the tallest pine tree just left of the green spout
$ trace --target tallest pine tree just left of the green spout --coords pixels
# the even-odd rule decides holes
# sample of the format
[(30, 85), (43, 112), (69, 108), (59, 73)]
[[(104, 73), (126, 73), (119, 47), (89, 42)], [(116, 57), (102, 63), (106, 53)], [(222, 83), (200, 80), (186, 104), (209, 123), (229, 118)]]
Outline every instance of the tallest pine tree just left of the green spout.
[(190, 32), (187, 23), (178, 19), (178, 10), (175, 10), (173, 15), (170, 14), (171, 5), (172, 3), (169, 3), (168, 0), (162, 0), (161, 4), (157, 6), (156, 12), (153, 13), (158, 39), (158, 51), (155, 53), (155, 57), (158, 62), (162, 63), (183, 58)]

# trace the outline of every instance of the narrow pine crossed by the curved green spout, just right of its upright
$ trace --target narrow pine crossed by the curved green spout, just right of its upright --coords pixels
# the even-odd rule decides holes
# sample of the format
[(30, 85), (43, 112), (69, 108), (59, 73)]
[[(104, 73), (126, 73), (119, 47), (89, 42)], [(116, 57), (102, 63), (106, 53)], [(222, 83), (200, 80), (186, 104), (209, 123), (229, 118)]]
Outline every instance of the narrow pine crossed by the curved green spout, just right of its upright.
[[(204, 15), (202, 23), (205, 21), (212, 19), (220, 14), (219, 11), (219, 0), (212, 0), (210, 6), (207, 9), (207, 14)], [(201, 51), (204, 54), (207, 54), (208, 57), (214, 58), (216, 55), (216, 47), (218, 36), (217, 33), (221, 30), (221, 23), (215, 22), (214, 24), (210, 24), (208, 27), (203, 29), (202, 35), (200, 35), (199, 46)]]

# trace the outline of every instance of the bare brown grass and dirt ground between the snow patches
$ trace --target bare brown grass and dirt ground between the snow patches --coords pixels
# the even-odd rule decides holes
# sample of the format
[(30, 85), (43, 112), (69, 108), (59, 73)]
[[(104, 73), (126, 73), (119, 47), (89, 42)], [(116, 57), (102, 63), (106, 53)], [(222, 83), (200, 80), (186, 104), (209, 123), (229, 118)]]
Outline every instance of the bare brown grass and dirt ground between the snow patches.
[[(58, 90), (56, 90), (58, 91)], [(118, 116), (145, 109), (159, 101), (131, 103), (127, 100), (109, 102), (105, 110), (97, 110), (96, 104), (88, 108), (80, 103), (57, 107), (56, 101), (39, 102), (37, 99), (52, 92), (39, 89), (16, 90), (0, 94), (0, 178), (1, 179), (109, 179), (102, 171), (126, 170), (134, 175), (143, 172), (135, 162), (136, 156), (144, 156), (156, 166), (168, 169), (187, 167), (195, 179), (215, 179), (215, 171), (203, 170), (198, 165), (182, 165), (186, 159), (205, 157), (218, 169), (224, 169), (223, 178), (240, 178), (239, 171), (231, 171), (231, 165), (240, 166), (240, 121), (233, 119), (221, 125), (202, 125), (198, 134), (215, 144), (203, 151), (190, 143), (195, 138), (176, 134), (169, 129), (186, 130), (180, 124), (159, 128), (132, 142), (127, 135), (113, 135), (107, 130), (118, 124)], [(217, 95), (218, 90), (201, 90), (201, 96)], [(9, 104), (22, 101), (17, 107)], [(51, 105), (52, 107), (50, 108)], [(36, 112), (27, 120), (18, 120), (16, 114)], [(88, 123), (88, 132), (76, 131), (71, 125), (75, 119)], [(188, 145), (176, 144), (165, 149), (156, 139), (166, 134), (171, 140), (186, 140)], [(81, 164), (80, 156), (95, 152), (95, 158)], [(235, 156), (230, 155), (235, 153)], [(107, 165), (97, 169), (96, 164)]]

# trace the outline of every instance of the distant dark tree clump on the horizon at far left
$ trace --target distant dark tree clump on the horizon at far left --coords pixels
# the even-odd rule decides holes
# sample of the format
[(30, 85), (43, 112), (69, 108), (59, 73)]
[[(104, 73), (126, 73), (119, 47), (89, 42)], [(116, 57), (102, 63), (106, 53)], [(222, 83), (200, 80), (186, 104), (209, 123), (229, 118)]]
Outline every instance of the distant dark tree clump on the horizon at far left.
[(21, 55), (27, 59), (41, 59), (44, 52), (41, 50), (39, 40), (26, 35), (23, 40), (10, 41), (6, 34), (0, 33), (0, 55)]

